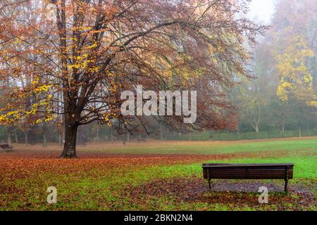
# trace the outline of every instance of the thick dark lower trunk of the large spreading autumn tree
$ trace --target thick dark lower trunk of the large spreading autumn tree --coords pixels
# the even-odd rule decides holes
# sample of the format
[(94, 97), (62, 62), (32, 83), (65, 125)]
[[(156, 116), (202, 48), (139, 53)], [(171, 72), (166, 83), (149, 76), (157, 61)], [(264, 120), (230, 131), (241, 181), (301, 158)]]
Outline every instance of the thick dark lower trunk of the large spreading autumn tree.
[(60, 158), (77, 158), (76, 155), (76, 139), (77, 139), (77, 125), (65, 127), (65, 143), (63, 153)]

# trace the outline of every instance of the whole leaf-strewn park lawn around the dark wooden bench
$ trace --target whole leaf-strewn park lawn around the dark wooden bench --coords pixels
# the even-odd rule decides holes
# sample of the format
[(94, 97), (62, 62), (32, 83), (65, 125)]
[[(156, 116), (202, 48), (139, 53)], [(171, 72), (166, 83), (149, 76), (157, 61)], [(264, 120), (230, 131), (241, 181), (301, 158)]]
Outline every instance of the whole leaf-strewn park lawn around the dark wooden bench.
[[(0, 153), (0, 210), (317, 209), (317, 139), (99, 144), (78, 148), (75, 160), (37, 146), (33, 158), (30, 148)], [(201, 162), (293, 162), (294, 179), (288, 195), (271, 180), (216, 180), (207, 191)], [(46, 203), (49, 186), (56, 204)], [(268, 187), (268, 204), (259, 204), (259, 186)]]

